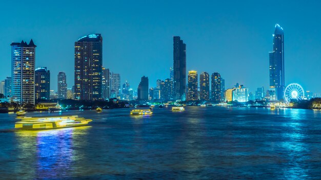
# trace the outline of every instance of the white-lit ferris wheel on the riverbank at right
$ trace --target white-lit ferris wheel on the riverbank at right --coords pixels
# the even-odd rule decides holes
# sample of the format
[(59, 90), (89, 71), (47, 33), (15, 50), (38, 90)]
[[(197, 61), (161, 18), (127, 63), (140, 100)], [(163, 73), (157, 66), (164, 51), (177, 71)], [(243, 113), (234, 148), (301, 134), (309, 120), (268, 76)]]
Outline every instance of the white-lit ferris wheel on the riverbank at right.
[(284, 100), (290, 102), (291, 100), (303, 100), (304, 90), (300, 84), (289, 84), (284, 91)]

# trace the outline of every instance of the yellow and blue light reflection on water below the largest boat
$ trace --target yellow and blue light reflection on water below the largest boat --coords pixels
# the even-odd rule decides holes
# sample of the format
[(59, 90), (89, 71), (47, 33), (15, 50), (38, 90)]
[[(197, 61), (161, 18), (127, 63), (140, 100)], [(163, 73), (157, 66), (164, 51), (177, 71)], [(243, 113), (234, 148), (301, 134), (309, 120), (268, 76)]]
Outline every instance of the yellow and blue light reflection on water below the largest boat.
[(16, 131), (17, 173), (27, 179), (70, 175), (75, 159), (75, 142), (84, 139), (90, 126), (43, 131)]

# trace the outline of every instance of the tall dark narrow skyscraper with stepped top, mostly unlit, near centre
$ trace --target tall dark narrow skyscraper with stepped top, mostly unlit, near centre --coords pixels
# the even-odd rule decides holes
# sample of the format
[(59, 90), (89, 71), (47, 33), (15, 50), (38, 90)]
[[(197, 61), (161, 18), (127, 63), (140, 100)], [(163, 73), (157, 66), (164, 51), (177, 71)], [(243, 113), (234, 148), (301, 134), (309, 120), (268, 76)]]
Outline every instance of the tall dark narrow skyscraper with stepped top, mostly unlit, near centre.
[(173, 37), (174, 100), (186, 100), (186, 44), (179, 36)]

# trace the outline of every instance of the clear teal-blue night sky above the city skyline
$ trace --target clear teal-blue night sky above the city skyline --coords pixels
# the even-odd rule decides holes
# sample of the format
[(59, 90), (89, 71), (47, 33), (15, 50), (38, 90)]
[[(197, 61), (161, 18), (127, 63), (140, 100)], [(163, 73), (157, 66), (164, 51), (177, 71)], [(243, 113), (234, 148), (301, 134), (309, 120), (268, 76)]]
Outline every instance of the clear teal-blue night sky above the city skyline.
[(103, 66), (133, 89), (142, 76), (150, 87), (169, 78), (173, 36), (187, 44), (187, 70), (219, 72), (255, 92), (269, 85), (269, 51), (278, 23), (285, 33), (285, 81), (321, 93), (319, 1), (7, 1), (1, 10), (0, 79), (11, 76), (11, 42), (32, 38), (36, 67), (74, 81), (74, 42), (103, 36)]

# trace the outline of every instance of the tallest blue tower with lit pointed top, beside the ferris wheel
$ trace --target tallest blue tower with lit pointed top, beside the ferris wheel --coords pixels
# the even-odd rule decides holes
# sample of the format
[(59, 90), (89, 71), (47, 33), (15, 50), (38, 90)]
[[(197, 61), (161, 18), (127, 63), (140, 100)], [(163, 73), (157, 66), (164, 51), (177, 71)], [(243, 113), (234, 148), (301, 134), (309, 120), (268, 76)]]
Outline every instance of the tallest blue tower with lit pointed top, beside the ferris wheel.
[(283, 99), (285, 90), (284, 77), (284, 32), (278, 24), (275, 25), (273, 34), (273, 51), (270, 57), (270, 98), (273, 100)]

